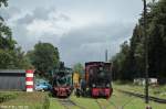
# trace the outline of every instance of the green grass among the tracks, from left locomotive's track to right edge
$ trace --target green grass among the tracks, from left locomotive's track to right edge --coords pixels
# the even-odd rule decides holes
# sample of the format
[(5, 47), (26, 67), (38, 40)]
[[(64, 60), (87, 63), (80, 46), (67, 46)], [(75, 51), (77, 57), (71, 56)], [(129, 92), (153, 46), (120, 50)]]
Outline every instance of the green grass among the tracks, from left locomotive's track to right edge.
[[(124, 88), (124, 86), (122, 86), (122, 88)], [(75, 103), (84, 107), (85, 109), (100, 109), (96, 99), (83, 97), (77, 98), (74, 95), (72, 95), (70, 99), (73, 100)], [(110, 99), (100, 98), (97, 100), (102, 106), (106, 107), (105, 109), (145, 109), (145, 107), (147, 106), (144, 99), (122, 94), (116, 89), (114, 89), (114, 92)], [(149, 101), (148, 105), (153, 109), (166, 109), (166, 105), (163, 103)], [(50, 109), (65, 109), (65, 108), (56, 99), (53, 99)], [(70, 107), (70, 109), (79, 109), (79, 108)]]

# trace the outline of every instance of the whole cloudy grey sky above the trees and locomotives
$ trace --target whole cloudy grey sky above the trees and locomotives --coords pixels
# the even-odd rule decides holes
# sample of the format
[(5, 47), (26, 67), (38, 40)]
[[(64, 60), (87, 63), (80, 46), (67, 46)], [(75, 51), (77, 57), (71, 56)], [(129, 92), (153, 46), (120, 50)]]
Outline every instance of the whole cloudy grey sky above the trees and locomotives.
[(41, 42), (59, 47), (68, 65), (104, 61), (129, 40), (142, 0), (9, 0), (0, 14), (24, 51)]

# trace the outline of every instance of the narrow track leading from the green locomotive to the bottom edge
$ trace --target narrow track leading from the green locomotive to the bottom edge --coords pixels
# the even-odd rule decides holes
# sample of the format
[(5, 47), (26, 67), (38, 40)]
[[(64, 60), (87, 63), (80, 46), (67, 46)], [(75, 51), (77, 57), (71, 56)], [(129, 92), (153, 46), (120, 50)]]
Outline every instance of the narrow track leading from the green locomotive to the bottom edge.
[(64, 106), (65, 109), (72, 109), (72, 107), (79, 107), (80, 109), (86, 109), (77, 103), (75, 103), (74, 101), (72, 101), (70, 98), (65, 98), (65, 99), (58, 99), (58, 101)]

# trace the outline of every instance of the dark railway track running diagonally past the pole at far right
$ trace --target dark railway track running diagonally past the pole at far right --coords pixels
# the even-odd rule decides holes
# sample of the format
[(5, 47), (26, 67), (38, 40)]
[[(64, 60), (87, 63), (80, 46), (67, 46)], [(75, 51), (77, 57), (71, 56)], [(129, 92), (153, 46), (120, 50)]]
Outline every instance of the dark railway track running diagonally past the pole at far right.
[[(142, 94), (135, 94), (135, 92), (131, 92), (131, 91), (126, 91), (126, 90), (122, 90), (122, 89), (116, 89), (116, 90), (118, 90), (123, 94), (126, 94), (126, 95), (131, 95), (131, 96), (135, 96), (135, 97), (139, 97), (139, 98), (145, 98), (145, 95), (142, 95)], [(155, 101), (155, 102), (159, 102), (159, 103), (166, 103), (166, 99), (160, 99), (157, 97), (149, 96), (149, 100)]]

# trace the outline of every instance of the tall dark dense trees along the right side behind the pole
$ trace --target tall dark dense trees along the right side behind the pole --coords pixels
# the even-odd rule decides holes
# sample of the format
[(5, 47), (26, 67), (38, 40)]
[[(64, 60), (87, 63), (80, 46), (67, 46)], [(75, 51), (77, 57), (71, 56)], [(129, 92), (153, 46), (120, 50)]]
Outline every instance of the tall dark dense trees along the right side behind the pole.
[[(147, 43), (149, 77), (166, 78), (166, 0), (147, 4)], [(133, 80), (145, 77), (144, 17), (133, 30), (131, 40), (121, 45), (112, 58), (113, 79)]]

